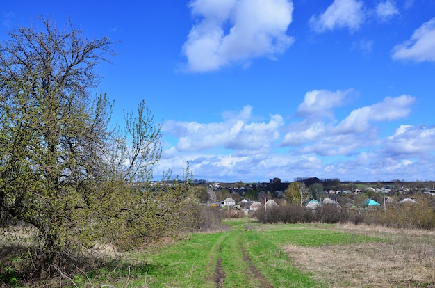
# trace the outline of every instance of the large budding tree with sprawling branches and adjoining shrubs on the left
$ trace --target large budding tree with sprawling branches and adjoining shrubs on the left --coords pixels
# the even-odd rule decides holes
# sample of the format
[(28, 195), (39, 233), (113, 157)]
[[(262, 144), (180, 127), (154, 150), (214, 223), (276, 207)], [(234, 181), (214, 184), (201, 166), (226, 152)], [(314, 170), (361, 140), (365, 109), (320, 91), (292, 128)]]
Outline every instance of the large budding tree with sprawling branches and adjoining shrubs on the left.
[(142, 102), (110, 128), (112, 105), (92, 91), (113, 42), (44, 18), (9, 36), (0, 44), (0, 217), (31, 228), (32, 276), (80, 262), (83, 247), (129, 248), (179, 229), (188, 171), (149, 185), (161, 126)]

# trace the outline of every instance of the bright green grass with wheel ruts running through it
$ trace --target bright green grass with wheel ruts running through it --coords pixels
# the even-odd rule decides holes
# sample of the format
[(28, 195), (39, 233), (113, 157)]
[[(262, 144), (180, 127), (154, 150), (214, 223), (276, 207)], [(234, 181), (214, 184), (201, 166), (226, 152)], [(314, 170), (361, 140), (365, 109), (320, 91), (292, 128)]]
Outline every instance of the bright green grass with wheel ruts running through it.
[(246, 218), (226, 223), (231, 226), (227, 232), (191, 234), (189, 239), (155, 251), (137, 251), (122, 265), (102, 269), (88, 275), (89, 279), (79, 275), (74, 281), (80, 287), (91, 287), (90, 283), (95, 287), (96, 283), (113, 287), (216, 287), (220, 260), (223, 287), (262, 287), (261, 278), (271, 287), (323, 287), (292, 265), (285, 245), (382, 241), (331, 230), (328, 225), (261, 225)]

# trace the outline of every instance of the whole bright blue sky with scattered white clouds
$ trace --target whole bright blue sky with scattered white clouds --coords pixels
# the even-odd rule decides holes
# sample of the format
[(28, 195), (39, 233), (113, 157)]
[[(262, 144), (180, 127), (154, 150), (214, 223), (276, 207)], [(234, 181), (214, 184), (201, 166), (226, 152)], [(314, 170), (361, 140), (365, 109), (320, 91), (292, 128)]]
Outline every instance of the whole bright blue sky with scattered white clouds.
[(59, 3), (2, 3), (0, 40), (43, 15), (120, 41), (97, 92), (162, 122), (156, 175), (435, 179), (432, 0)]

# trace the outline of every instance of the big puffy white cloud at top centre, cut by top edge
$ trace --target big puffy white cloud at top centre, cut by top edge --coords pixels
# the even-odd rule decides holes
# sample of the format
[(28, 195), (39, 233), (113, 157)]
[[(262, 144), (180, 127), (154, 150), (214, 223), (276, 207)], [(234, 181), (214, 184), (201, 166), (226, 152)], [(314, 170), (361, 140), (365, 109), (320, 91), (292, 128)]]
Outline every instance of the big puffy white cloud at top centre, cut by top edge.
[(232, 63), (285, 51), (293, 3), (287, 0), (194, 0), (189, 5), (199, 22), (183, 45), (186, 70), (206, 72)]

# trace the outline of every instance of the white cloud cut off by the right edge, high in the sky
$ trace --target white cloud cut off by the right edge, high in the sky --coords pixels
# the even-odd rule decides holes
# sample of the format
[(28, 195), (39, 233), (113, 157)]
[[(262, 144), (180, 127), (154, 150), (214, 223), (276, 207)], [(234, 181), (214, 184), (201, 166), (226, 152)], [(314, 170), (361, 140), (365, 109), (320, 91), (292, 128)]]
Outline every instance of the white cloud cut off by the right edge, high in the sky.
[(414, 31), (410, 40), (396, 45), (393, 59), (435, 62), (435, 18)]

